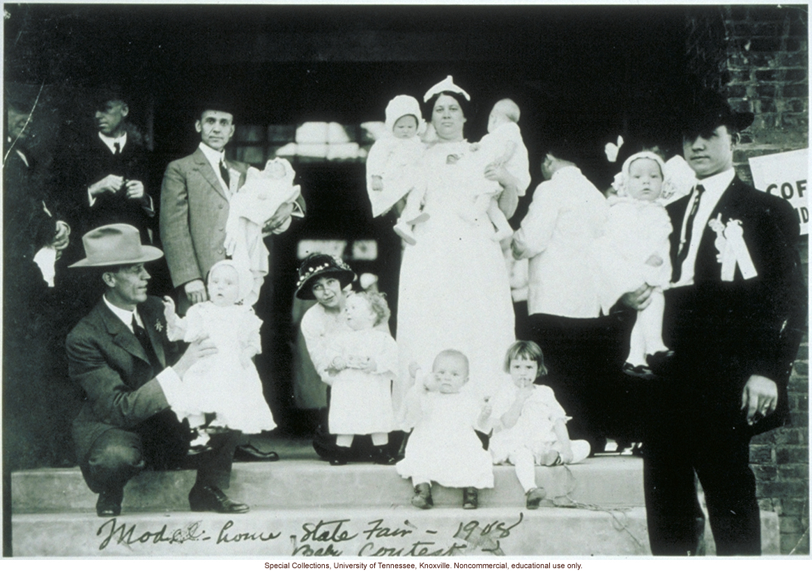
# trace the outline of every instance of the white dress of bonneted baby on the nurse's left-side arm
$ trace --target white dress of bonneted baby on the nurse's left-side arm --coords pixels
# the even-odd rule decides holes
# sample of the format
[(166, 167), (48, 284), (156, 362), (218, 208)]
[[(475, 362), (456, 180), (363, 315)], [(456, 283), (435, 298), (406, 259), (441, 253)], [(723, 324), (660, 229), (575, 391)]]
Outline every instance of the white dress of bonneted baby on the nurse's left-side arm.
[[(387, 213), (412, 188), (420, 185), (418, 162), (425, 145), (417, 135), (399, 139), (387, 135), (375, 141), (366, 157), (366, 189), (372, 216)], [(383, 190), (372, 190), (372, 177), (382, 177)]]

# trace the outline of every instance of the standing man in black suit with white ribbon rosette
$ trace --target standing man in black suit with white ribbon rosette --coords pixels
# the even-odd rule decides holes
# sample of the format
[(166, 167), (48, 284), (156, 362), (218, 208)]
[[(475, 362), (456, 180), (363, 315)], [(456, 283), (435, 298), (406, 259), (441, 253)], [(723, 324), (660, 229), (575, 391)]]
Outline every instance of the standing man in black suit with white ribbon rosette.
[[(705, 493), (719, 555), (758, 555), (761, 534), (749, 440), (784, 423), (787, 383), (806, 320), (798, 220), (787, 202), (736, 177), (733, 149), (753, 114), (702, 92), (683, 121), (697, 174), (671, 217), (672, 289), (663, 333), (673, 350), (644, 444), (654, 555), (696, 554)], [(646, 287), (624, 296), (645, 305)]]

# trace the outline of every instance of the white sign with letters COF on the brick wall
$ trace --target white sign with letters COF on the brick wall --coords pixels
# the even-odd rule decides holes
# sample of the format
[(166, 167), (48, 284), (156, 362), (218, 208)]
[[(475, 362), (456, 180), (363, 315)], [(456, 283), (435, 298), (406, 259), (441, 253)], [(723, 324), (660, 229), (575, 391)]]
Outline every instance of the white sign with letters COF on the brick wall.
[(801, 234), (808, 234), (810, 211), (806, 204), (806, 174), (809, 172), (809, 149), (752, 157), (749, 163), (754, 186), (759, 191), (788, 200), (801, 222)]

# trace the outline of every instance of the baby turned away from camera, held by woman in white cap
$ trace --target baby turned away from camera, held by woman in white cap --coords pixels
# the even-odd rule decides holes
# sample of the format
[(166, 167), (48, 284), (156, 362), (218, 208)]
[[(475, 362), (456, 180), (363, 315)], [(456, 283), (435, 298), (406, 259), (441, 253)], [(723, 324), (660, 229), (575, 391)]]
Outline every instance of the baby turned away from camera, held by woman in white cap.
[(482, 137), (479, 143), (471, 146), (474, 151), (472, 158), (477, 165), (472, 170), (471, 182), (477, 195), (474, 212), (480, 213), (483, 210), (487, 212), (490, 221), (496, 227), (496, 233), (492, 236), (496, 242), (512, 236), (513, 229), (499, 208), (501, 187), (498, 183), (484, 178), (482, 174), (489, 165), (504, 166), (508, 173), (519, 181), (519, 194), (524, 194), (530, 183), (529, 161), (518, 125), (519, 117), (519, 105), (514, 101), (511, 99), (497, 101), (488, 116), (488, 134)]

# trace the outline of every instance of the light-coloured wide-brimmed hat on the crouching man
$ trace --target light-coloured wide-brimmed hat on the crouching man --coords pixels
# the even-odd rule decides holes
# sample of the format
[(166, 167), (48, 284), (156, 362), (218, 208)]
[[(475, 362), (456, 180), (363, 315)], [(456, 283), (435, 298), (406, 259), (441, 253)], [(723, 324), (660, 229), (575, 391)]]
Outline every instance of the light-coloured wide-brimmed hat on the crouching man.
[(125, 264), (142, 264), (158, 260), (163, 252), (153, 246), (142, 246), (140, 234), (129, 224), (109, 224), (90, 230), (82, 236), (86, 258), (68, 268), (102, 268)]

